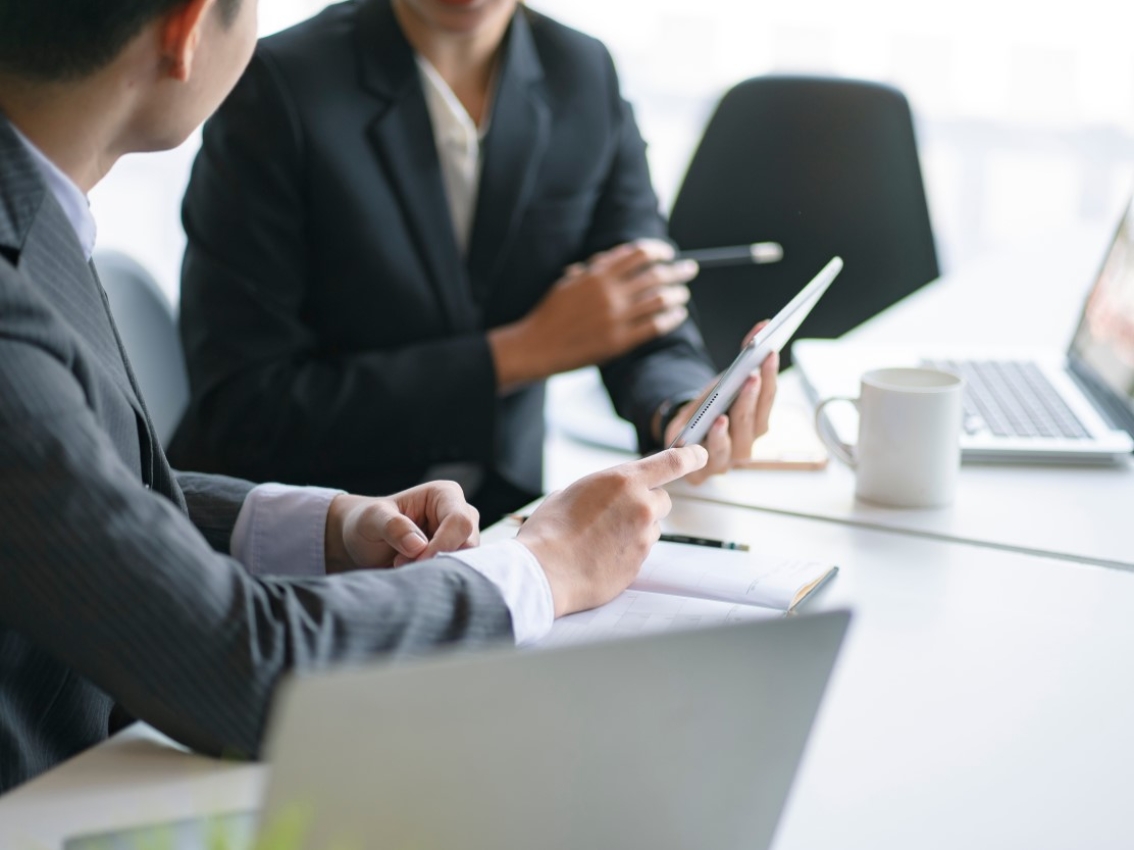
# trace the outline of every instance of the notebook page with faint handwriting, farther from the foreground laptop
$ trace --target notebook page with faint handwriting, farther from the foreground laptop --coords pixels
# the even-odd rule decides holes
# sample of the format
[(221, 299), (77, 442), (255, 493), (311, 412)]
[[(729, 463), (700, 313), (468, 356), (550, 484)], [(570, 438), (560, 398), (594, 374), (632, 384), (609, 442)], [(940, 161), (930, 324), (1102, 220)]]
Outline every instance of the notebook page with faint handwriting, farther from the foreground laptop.
[(658, 543), (631, 589), (786, 611), (832, 569), (805, 558)]

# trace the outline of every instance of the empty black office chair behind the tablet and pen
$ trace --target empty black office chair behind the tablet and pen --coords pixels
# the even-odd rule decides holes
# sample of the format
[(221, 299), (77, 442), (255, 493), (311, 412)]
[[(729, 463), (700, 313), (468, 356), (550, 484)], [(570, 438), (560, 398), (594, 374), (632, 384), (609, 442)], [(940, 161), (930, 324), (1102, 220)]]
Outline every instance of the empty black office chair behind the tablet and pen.
[(741, 83), (705, 129), (670, 235), (686, 250), (784, 246), (776, 265), (705, 270), (693, 282), (719, 367), (755, 320), (775, 315), (836, 254), (846, 267), (796, 335), (840, 337), (939, 274), (909, 104), (874, 83)]

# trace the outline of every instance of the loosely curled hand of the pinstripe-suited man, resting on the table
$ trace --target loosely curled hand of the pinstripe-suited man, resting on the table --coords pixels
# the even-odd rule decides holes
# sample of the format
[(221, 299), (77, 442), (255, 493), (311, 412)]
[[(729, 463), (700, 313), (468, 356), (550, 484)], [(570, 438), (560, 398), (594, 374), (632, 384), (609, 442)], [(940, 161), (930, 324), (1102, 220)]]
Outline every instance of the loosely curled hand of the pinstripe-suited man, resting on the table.
[(481, 541), (458, 484), (430, 482), (381, 499), (340, 495), (327, 512), (327, 571), (400, 567)]

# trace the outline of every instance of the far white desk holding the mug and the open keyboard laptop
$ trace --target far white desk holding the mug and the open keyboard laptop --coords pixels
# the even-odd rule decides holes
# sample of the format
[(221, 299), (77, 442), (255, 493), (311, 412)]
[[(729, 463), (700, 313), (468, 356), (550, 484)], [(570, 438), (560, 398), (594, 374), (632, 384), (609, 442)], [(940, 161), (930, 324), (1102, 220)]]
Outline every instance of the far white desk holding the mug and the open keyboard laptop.
[[(1065, 346), (1108, 237), (1086, 230), (1074, 233), (1059, 250), (1038, 244), (990, 257), (942, 278), (849, 335), (871, 345)], [(1022, 305), (1026, 311), (1019, 309)], [(552, 405), (557, 397), (552, 388)], [(576, 389), (573, 400), (578, 398)], [(781, 376), (778, 403), (809, 405), (792, 371)], [(551, 419), (556, 419), (553, 411)], [(628, 457), (553, 433), (548, 486), (561, 487)], [(819, 473), (735, 471), (675, 492), (940, 539), (1134, 566), (1134, 524), (1128, 521), (1134, 505), (1131, 462), (1107, 468), (965, 465), (956, 503), (942, 510), (895, 510), (858, 502), (853, 473), (835, 460)]]

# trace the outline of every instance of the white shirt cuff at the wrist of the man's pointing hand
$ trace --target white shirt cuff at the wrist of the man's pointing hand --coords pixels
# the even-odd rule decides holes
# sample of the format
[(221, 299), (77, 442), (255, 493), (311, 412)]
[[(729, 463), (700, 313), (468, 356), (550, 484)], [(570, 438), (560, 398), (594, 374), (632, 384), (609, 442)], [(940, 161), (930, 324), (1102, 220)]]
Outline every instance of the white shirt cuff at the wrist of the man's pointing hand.
[(480, 549), (451, 552), (442, 558), (452, 558), (472, 567), (497, 586), (511, 613), (516, 646), (535, 643), (551, 631), (556, 619), (551, 585), (535, 555), (523, 543), (490, 543)]

